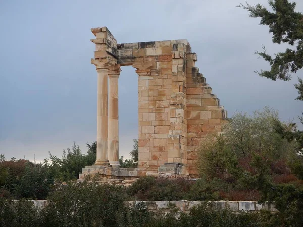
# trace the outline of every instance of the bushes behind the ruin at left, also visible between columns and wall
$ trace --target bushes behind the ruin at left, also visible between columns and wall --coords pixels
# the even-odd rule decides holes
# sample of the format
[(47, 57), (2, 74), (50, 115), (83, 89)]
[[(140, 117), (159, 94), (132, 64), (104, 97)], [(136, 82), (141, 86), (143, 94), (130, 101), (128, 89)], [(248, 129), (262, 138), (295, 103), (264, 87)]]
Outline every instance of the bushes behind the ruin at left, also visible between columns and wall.
[[(96, 142), (86, 144), (87, 154), (82, 154), (74, 142), (72, 149), (63, 150), (61, 158), (49, 153), (49, 159), (35, 164), (28, 160), (6, 160), (0, 155), (0, 197), (45, 199), (56, 182), (76, 180), (82, 168), (96, 161)], [(134, 140), (131, 159), (121, 160), (121, 167), (138, 166), (138, 140)]]

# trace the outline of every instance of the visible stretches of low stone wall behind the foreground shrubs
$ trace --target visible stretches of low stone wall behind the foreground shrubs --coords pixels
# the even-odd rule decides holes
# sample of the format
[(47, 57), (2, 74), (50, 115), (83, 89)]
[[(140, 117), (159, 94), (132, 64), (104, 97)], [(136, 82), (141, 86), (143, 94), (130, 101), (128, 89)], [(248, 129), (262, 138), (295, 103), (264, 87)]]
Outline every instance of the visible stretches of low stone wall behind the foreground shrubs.
[[(19, 200), (14, 200), (19, 201)], [(44, 208), (47, 205), (47, 200), (30, 200), (34, 203), (34, 206), (38, 208)], [(256, 201), (213, 201), (215, 204), (218, 204), (219, 207), (222, 209), (230, 208), (234, 212), (239, 211), (259, 211), (262, 209), (270, 210), (270, 211), (277, 211), (273, 205), (268, 206), (267, 204), (262, 205), (258, 204)], [(174, 204), (177, 209), (181, 212), (188, 212), (192, 207), (200, 205), (201, 201), (187, 201), (187, 200), (180, 200), (180, 201), (126, 201), (127, 204), (134, 205), (138, 203), (144, 203), (147, 206), (147, 209), (150, 211), (155, 210), (163, 210), (168, 211), (169, 203)]]

